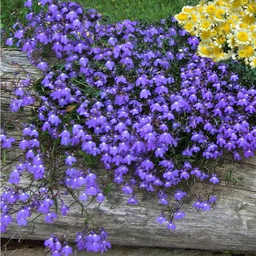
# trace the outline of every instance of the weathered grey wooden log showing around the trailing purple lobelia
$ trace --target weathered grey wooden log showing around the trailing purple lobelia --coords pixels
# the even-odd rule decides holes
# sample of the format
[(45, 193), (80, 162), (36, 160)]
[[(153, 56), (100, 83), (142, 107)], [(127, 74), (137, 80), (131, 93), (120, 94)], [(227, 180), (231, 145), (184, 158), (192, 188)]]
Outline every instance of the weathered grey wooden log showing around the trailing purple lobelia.
[[(32, 72), (36, 78), (40, 78), (41, 74), (29, 65), (26, 55), (22, 52), (2, 50), (1, 61), (1, 124), (6, 124), (8, 120), (29, 120), (32, 108), (25, 108), (22, 114), (9, 111), (8, 105), (12, 98), (10, 89), (19, 79), (13, 72), (20, 72), (19, 77), (24, 77), (25, 72)], [(10, 131), (10, 135), (19, 138), (20, 132)], [(10, 164), (4, 166), (4, 176), (17, 163), (14, 159), (19, 150), (15, 150), (7, 154), (6, 161)], [(218, 197), (215, 209), (197, 212), (191, 206), (198, 191), (203, 193), (211, 190), (209, 184), (196, 183), (188, 191), (183, 206), (186, 217), (176, 222), (177, 229), (174, 232), (155, 222), (156, 216), (164, 208), (157, 203), (154, 193), (147, 194), (146, 197), (141, 193), (138, 196), (138, 205), (127, 205), (128, 197), (115, 185), (100, 205), (94, 220), (106, 228), (109, 240), (117, 245), (256, 251), (256, 158), (235, 161), (232, 154), (227, 152), (221, 160), (212, 162), (209, 168), (214, 168), (214, 172), (223, 178), (214, 189)], [(232, 175), (225, 181), (230, 171)], [(22, 183), (26, 186), (27, 180), (23, 179)], [(79, 191), (76, 190), (75, 193), (78, 195)], [(71, 202), (72, 197), (67, 196), (66, 203)], [(92, 211), (96, 205), (90, 204), (88, 210)], [(30, 219), (36, 216), (35, 213)], [(81, 207), (75, 204), (67, 216), (59, 217), (54, 224), (46, 224), (44, 217), (39, 216), (33, 224), (21, 230), (16, 224), (10, 225), (8, 232), (3, 233), (2, 237), (36, 240), (46, 239), (50, 233), (66, 233), (68, 239), (74, 239), (75, 232), (83, 222)]]

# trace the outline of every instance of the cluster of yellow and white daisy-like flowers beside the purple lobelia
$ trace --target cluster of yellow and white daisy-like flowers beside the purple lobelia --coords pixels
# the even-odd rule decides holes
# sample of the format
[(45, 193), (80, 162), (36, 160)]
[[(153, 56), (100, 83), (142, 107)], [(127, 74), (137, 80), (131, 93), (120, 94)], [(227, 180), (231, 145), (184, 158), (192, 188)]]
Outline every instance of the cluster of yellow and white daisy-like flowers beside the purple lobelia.
[(187, 32), (200, 37), (198, 54), (220, 61), (232, 57), (256, 66), (256, 2), (202, 0), (175, 15)]

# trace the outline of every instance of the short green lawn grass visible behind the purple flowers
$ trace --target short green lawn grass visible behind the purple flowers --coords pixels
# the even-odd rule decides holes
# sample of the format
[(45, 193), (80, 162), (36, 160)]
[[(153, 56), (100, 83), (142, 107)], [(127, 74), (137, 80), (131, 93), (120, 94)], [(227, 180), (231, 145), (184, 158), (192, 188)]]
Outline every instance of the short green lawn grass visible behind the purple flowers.
[[(16, 22), (22, 22), (27, 14), (25, 0), (1, 0), (1, 28), (6, 32)], [(75, 0), (85, 8), (95, 8), (111, 22), (123, 19), (159, 21), (179, 13), (185, 5), (196, 5), (199, 0)]]

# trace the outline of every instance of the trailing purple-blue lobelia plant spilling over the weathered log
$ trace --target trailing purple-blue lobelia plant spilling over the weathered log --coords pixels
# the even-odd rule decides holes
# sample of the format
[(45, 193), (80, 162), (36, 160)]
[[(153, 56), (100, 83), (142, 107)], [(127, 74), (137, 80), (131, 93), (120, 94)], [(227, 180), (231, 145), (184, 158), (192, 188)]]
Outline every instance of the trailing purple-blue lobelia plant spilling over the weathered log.
[[(93, 222), (84, 201), (91, 196), (100, 205), (110, 186), (104, 188), (89, 168), (81, 169), (81, 157), (87, 165), (100, 159), (130, 196), (128, 204), (138, 203), (138, 190), (157, 192), (165, 207), (156, 221), (175, 230), (175, 221), (185, 217), (186, 187), (194, 180), (219, 183), (205, 161), (224, 149), (237, 160), (241, 150), (245, 157), (254, 155), (254, 85), (240, 84), (227, 64), (196, 55), (198, 38), (175, 19), (155, 26), (130, 20), (107, 24), (96, 10), (84, 11), (74, 2), (41, 0), (38, 13), (35, 4), (25, 2), (27, 24), (14, 24), (6, 41), (27, 52), (43, 77), (34, 81), (28, 74), (14, 88), (12, 111), (36, 101), (39, 106), (37, 118), (21, 126), (18, 147), (24, 154), (2, 192), (1, 232), (14, 213), (20, 226), (36, 212), (53, 223), (56, 205), (68, 214), (70, 194), (85, 214), (77, 248), (103, 252), (111, 247), (107, 233)], [(42, 59), (47, 47), (58, 64)], [(14, 141), (1, 131), (3, 148)], [(33, 186), (22, 187), (25, 174)], [(78, 188), (79, 198), (73, 193)], [(170, 195), (175, 204), (168, 202)], [(201, 195), (193, 207), (208, 211), (216, 200), (213, 193)], [(67, 242), (52, 234), (45, 246), (52, 255), (69, 255)]]

